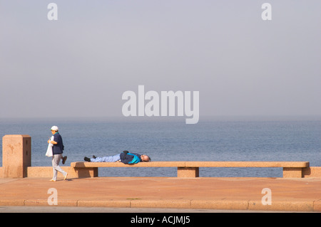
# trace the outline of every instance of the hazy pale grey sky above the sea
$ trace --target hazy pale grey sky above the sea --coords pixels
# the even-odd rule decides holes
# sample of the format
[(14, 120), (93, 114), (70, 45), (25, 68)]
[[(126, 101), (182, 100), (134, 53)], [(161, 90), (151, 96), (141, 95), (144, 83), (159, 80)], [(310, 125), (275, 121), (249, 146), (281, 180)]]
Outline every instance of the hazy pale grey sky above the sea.
[[(58, 20), (49, 20), (49, 3)], [(262, 5), (272, 6), (263, 20)], [(123, 117), (127, 90), (205, 116), (321, 115), (321, 1), (2, 1), (0, 117)]]

